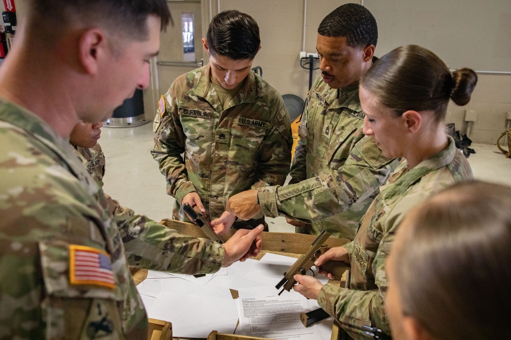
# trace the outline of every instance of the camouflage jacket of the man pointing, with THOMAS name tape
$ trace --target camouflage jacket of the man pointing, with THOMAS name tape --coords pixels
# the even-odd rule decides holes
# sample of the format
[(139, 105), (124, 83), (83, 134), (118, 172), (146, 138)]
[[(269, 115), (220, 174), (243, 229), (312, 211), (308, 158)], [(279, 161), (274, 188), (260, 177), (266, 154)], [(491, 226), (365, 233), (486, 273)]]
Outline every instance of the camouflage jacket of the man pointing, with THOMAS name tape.
[(363, 135), (363, 124), (358, 86), (331, 89), (320, 77), (301, 116), (290, 184), (259, 189), (264, 214), (313, 222), (307, 233), (325, 229), (353, 240), (378, 188), (397, 165)]

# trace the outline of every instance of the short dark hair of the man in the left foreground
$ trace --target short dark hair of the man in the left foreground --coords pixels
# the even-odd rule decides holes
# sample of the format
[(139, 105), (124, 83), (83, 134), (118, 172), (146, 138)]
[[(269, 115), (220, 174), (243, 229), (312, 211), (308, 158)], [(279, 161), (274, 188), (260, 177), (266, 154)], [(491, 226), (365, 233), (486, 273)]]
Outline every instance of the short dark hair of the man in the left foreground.
[(147, 17), (151, 14), (161, 19), (161, 30), (172, 20), (165, 0), (30, 0), (29, 27), (36, 32), (44, 30), (41, 33), (51, 38), (50, 28), (58, 32), (79, 23), (145, 40), (149, 34)]

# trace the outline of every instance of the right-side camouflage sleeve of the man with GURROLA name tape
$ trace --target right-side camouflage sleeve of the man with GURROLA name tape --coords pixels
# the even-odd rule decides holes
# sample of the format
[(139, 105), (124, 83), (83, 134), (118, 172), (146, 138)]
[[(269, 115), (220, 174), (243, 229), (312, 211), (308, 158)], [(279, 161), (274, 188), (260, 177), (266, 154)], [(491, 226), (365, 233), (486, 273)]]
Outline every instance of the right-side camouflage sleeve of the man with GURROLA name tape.
[(275, 115), (273, 124), (260, 146), (258, 181), (252, 185), (253, 189), (284, 184), (289, 173), (292, 146), (291, 122), (282, 101), (282, 108)]

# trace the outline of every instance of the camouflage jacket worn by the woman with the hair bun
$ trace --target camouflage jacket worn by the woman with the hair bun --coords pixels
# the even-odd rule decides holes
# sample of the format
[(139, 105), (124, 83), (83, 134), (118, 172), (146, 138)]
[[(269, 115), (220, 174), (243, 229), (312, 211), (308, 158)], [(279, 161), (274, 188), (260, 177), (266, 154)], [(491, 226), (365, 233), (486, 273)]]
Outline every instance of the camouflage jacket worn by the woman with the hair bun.
[[(328, 283), (319, 293), (319, 305), (343, 325), (378, 327), (389, 334), (385, 260), (401, 220), (431, 194), (470, 178), (470, 165), (451, 137), (446, 149), (412, 169), (402, 160), (367, 210), (355, 240), (344, 246), (350, 254), (351, 289)], [(365, 338), (362, 331), (350, 335)]]

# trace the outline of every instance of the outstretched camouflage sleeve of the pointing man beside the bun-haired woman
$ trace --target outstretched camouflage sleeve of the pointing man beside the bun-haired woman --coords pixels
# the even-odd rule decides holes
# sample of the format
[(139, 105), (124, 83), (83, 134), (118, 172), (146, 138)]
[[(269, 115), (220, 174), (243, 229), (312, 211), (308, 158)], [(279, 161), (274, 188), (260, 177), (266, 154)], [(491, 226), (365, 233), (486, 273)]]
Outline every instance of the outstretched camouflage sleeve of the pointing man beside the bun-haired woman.
[(340, 170), (284, 187), (260, 188), (260, 205), (268, 217), (319, 221), (375, 194), (396, 165), (381, 154), (373, 138), (365, 136)]

